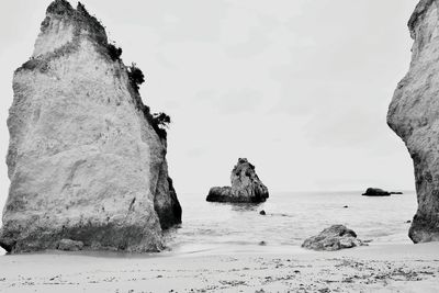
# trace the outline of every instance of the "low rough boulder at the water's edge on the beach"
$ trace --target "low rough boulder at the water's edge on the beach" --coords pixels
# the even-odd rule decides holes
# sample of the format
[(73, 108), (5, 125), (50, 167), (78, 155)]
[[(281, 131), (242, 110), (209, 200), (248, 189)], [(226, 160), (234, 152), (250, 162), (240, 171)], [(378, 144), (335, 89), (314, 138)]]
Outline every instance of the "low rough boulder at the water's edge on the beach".
[(344, 225), (333, 225), (317, 236), (307, 238), (302, 244), (302, 247), (318, 251), (334, 251), (362, 245), (363, 243), (357, 238), (357, 234), (353, 230)]

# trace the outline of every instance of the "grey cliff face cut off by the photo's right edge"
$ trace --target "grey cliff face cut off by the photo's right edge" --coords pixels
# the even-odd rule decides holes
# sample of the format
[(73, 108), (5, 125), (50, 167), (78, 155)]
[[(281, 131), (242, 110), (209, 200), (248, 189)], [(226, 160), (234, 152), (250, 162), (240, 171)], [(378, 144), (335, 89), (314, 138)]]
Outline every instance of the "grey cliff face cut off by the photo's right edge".
[(414, 243), (439, 240), (438, 5), (438, 0), (421, 0), (408, 22), (412, 63), (387, 113), (390, 127), (406, 144), (415, 167), (418, 210), (408, 233)]

